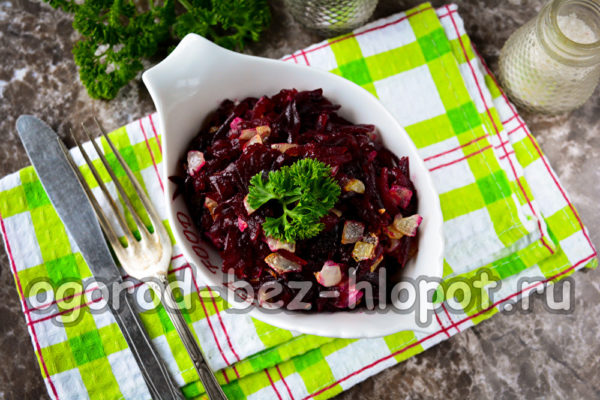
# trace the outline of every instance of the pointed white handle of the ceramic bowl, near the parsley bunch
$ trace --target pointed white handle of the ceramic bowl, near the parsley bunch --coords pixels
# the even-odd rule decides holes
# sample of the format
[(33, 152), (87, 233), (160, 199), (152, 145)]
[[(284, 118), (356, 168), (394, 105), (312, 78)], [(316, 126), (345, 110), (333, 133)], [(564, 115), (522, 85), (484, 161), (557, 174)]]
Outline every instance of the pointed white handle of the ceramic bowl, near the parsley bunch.
[(194, 33), (186, 35), (167, 58), (142, 74), (159, 115), (164, 105), (186, 96), (190, 83), (215, 76), (219, 66), (230, 62), (232, 57), (240, 54)]

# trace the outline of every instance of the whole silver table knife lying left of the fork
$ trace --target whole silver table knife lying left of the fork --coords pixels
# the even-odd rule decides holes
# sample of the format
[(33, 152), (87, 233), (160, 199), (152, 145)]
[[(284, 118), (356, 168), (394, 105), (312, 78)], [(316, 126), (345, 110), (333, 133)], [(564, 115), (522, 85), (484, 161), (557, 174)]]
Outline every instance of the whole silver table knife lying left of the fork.
[[(58, 135), (43, 121), (30, 115), (21, 115), (17, 119), (17, 131), (50, 202), (79, 247), (94, 278), (108, 287), (103, 295), (152, 398), (184, 399), (152, 346), (127, 291), (111, 290), (113, 285), (123, 287), (121, 271), (110, 253), (94, 209), (61, 150)], [(116, 298), (112, 295), (114, 293), (123, 294)]]

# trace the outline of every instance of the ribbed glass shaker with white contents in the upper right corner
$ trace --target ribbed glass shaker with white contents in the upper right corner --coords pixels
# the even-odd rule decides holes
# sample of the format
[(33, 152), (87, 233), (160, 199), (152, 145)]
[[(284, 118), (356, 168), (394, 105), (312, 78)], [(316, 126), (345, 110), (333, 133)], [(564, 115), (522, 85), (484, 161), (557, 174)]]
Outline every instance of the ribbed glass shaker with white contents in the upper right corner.
[(553, 0), (512, 34), (500, 80), (522, 107), (560, 113), (582, 105), (600, 78), (600, 0)]

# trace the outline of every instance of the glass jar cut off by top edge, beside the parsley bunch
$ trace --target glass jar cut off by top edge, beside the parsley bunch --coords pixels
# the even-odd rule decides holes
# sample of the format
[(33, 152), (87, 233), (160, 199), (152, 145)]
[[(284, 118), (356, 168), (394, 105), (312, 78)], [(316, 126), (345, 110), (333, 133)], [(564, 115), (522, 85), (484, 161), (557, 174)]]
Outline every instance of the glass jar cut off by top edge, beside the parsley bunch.
[(378, 0), (285, 0), (294, 19), (323, 36), (333, 36), (363, 25)]

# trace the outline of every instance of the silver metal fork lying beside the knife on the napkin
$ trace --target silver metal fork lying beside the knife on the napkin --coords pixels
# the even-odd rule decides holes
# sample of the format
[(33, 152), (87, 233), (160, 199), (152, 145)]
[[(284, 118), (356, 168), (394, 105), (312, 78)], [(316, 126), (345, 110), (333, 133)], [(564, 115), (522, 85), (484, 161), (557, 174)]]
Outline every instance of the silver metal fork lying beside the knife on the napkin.
[(145, 281), (163, 303), (163, 306), (167, 314), (169, 315), (169, 318), (171, 319), (175, 330), (181, 337), (181, 341), (183, 342), (185, 349), (187, 350), (190, 358), (192, 359), (192, 362), (194, 363), (194, 367), (198, 372), (198, 376), (200, 377), (200, 381), (202, 382), (202, 385), (204, 386), (208, 397), (210, 399), (226, 400), (227, 397), (223, 393), (223, 390), (217, 382), (216, 377), (214, 376), (208, 364), (206, 363), (206, 359), (202, 354), (202, 350), (200, 350), (198, 343), (194, 339), (192, 332), (189, 330), (189, 327), (185, 322), (185, 319), (183, 318), (179, 307), (177, 306), (177, 302), (175, 301), (175, 297), (173, 295), (173, 290), (169, 285), (169, 281), (167, 280), (167, 270), (169, 269), (169, 264), (171, 261), (171, 255), (173, 251), (171, 239), (167, 234), (167, 230), (165, 229), (160, 218), (158, 217), (152, 203), (150, 203), (150, 200), (144, 192), (144, 189), (142, 189), (142, 187), (138, 183), (137, 179), (133, 175), (133, 172), (131, 171), (125, 160), (123, 160), (121, 154), (117, 151), (117, 149), (115, 148), (111, 140), (108, 138), (108, 135), (106, 135), (98, 121), (96, 121), (96, 124), (102, 134), (102, 137), (106, 139), (117, 161), (125, 171), (127, 178), (129, 179), (131, 185), (135, 189), (136, 195), (139, 197), (142, 205), (144, 206), (145, 211), (148, 214), (148, 217), (150, 218), (150, 222), (154, 227), (153, 233), (151, 233), (146, 228), (146, 225), (142, 222), (141, 217), (135, 211), (131, 199), (125, 192), (125, 189), (123, 188), (119, 180), (117, 179), (117, 176), (115, 175), (114, 171), (109, 165), (106, 157), (100, 150), (100, 147), (98, 146), (96, 141), (90, 137), (90, 134), (86, 130), (85, 126), (82, 125), (84, 134), (94, 146), (94, 149), (96, 150), (98, 157), (104, 165), (104, 168), (106, 168), (106, 171), (108, 172), (112, 181), (114, 182), (117, 192), (123, 199), (125, 207), (131, 213), (131, 216), (133, 217), (133, 220), (135, 221), (137, 229), (140, 233), (140, 240), (137, 240), (133, 232), (129, 229), (125, 220), (125, 216), (119, 210), (119, 207), (117, 207), (116, 202), (113, 200), (108, 189), (106, 188), (106, 185), (102, 181), (98, 170), (94, 167), (94, 164), (92, 163), (89, 155), (87, 154), (81, 143), (77, 139), (75, 139), (72, 132), (71, 136), (73, 136), (73, 140), (75, 141), (77, 147), (81, 151), (81, 154), (85, 159), (85, 162), (87, 163), (88, 167), (90, 168), (92, 175), (98, 182), (100, 190), (102, 190), (104, 196), (106, 196), (106, 199), (108, 200), (111, 209), (117, 217), (119, 226), (125, 233), (125, 238), (127, 239), (127, 246), (123, 246), (119, 241), (119, 236), (117, 235), (108, 218), (100, 208), (100, 205), (94, 197), (91, 188), (83, 178), (83, 175), (81, 174), (79, 168), (71, 158), (68, 150), (66, 150), (66, 148), (63, 147), (63, 151), (65, 152), (67, 159), (71, 162), (71, 167), (73, 167), (73, 170), (77, 174), (81, 185), (86, 191), (87, 196), (90, 199), (90, 202), (92, 203), (92, 206), (96, 211), (96, 215), (100, 222), (100, 226), (102, 227), (102, 230), (104, 231), (104, 234), (108, 239), (108, 242), (110, 243), (117, 259), (121, 263), (121, 266), (130, 276)]

